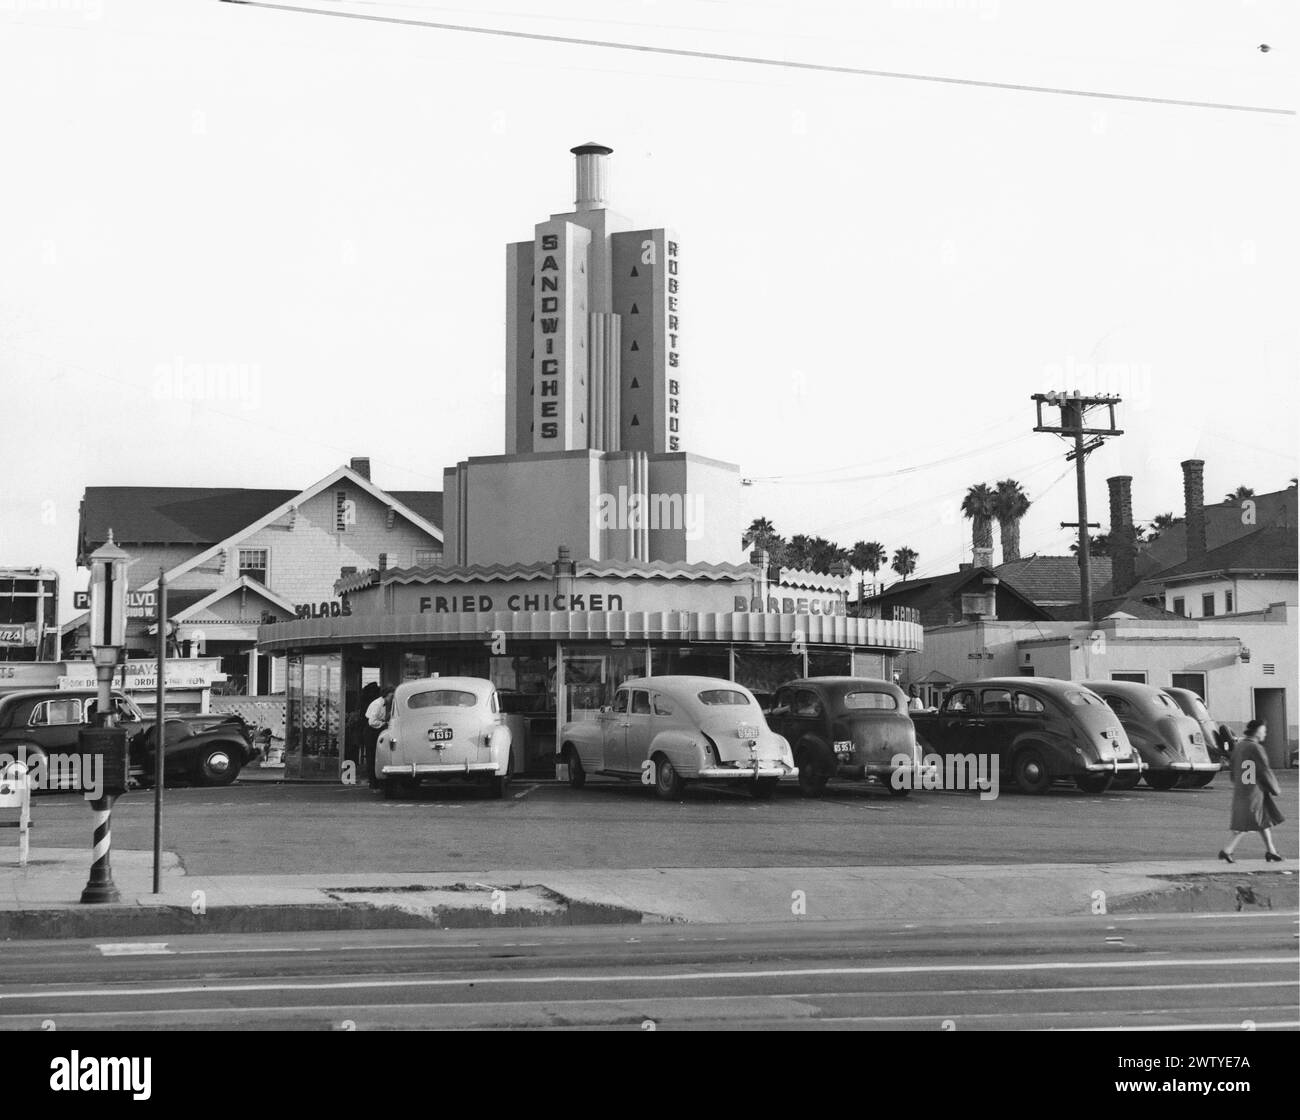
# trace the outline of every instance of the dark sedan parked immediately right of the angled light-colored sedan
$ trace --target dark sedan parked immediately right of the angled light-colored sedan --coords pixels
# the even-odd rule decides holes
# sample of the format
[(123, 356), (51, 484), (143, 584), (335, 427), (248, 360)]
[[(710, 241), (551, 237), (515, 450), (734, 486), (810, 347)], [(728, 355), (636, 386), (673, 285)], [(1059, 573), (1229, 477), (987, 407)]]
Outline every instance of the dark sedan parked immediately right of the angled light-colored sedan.
[[(906, 795), (920, 768), (907, 696), (866, 677), (806, 677), (781, 685), (767, 721), (790, 742), (805, 796), (820, 796), (832, 777), (875, 778)], [(900, 767), (898, 760), (906, 759)], [(894, 772), (906, 773), (894, 781)]]

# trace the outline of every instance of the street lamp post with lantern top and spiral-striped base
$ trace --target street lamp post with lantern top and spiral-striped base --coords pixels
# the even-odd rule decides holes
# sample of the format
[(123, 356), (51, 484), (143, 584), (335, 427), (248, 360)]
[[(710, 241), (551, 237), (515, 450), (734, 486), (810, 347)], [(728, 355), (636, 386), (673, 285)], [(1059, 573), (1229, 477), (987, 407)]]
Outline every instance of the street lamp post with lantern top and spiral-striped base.
[[(82, 902), (120, 902), (113, 882), (109, 855), (113, 847), (113, 800), (125, 789), (126, 732), (117, 726), (113, 707), (113, 669), (126, 650), (126, 563), (127, 555), (108, 541), (90, 556), (90, 642), (95, 660), (95, 728), (82, 730), (82, 754), (103, 756), (105, 776), (103, 796), (91, 802), (95, 811), (95, 839), (91, 848), (90, 878)], [(113, 781), (114, 770), (121, 777)]]

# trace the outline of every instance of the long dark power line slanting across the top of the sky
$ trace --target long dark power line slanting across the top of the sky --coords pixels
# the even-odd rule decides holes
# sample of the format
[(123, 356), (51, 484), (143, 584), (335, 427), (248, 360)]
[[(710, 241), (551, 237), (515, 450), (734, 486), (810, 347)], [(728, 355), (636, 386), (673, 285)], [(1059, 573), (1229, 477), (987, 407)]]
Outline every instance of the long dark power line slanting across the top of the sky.
[(324, 12), (318, 8), (296, 8), (290, 4), (266, 4), (263, 0), (221, 0), (244, 8), (270, 12), (294, 12), (302, 16), (330, 16), (339, 19), (361, 19), (368, 23), (394, 23), (403, 27), (429, 27), (434, 31), (459, 31), (467, 35), (497, 35), (503, 39), (530, 39), (538, 43), (563, 43), (571, 47), (599, 47), (607, 51), (637, 51), (645, 55), (671, 55), (677, 58), (701, 58), (711, 62), (740, 62), (749, 66), (776, 66), (786, 70), (812, 70), (823, 74), (849, 74), (861, 78), (896, 78), (905, 82), (935, 82), (944, 86), (975, 86), (984, 90), (1011, 90), (1020, 94), (1056, 94), (1063, 97), (1095, 97), (1105, 101), (1134, 101), (1147, 105), (1178, 105), (1187, 109), (1226, 109), (1234, 113), (1269, 113), (1294, 117), (1295, 109), (1271, 105), (1238, 105), (1226, 101), (1190, 101), (1182, 97), (1143, 97), (1138, 94), (1104, 94), (1098, 90), (1067, 90), (1056, 86), (1028, 86), (1018, 82), (987, 82), (978, 78), (949, 78), (941, 74), (911, 74), (902, 70), (868, 70), (861, 66), (835, 66), (828, 62), (798, 62), (788, 58), (763, 58), (755, 55), (724, 55), (718, 51), (689, 51), (685, 47), (651, 47), (645, 43), (619, 43), (612, 39), (586, 39), (577, 35), (543, 35), (540, 31), (507, 31), (502, 27), (477, 27), (465, 23), (437, 23), (400, 16), (372, 16), (365, 12)]

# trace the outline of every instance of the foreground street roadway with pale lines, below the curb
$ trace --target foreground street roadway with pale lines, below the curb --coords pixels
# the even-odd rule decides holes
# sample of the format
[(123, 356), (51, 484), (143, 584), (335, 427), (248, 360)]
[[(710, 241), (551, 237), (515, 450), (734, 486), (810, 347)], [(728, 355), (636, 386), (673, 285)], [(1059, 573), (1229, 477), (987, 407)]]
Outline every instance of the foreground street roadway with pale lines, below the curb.
[(1295, 952), (1273, 913), (32, 941), (0, 1029), (1295, 1029)]

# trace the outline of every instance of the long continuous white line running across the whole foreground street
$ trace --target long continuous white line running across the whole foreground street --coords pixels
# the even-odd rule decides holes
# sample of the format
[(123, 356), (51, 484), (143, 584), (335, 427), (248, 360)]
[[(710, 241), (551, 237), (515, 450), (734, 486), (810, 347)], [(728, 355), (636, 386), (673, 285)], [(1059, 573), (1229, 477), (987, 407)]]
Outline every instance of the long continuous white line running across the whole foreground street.
[(1063, 972), (1096, 968), (1227, 968), (1239, 964), (1295, 965), (1295, 956), (1212, 956), (1204, 960), (1089, 960), (1039, 961), (1018, 964), (898, 964), (875, 968), (766, 968), (751, 972), (666, 972), (651, 974), (615, 973), (612, 976), (465, 976), (458, 980), (346, 980), (332, 984), (199, 984), (174, 987), (72, 989), (65, 991), (5, 991), (4, 999), (86, 999), (120, 995), (190, 995), (194, 993), (234, 991), (344, 991), (368, 987), (452, 987), (474, 984), (660, 984), (673, 980), (768, 980), (794, 976), (916, 976), (953, 972)]

